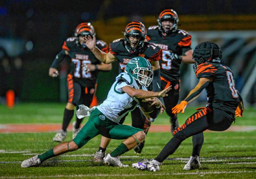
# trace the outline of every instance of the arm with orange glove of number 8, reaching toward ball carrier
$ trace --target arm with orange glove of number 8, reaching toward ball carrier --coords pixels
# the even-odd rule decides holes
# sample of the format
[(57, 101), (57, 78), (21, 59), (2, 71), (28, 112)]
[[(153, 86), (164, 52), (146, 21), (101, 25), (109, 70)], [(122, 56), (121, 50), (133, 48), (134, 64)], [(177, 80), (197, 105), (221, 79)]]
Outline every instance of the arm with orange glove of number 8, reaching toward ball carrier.
[(189, 92), (188, 96), (183, 101), (181, 101), (178, 105), (172, 108), (172, 113), (177, 114), (180, 111), (184, 113), (184, 110), (187, 107), (187, 104), (192, 102), (194, 99), (196, 99), (200, 95), (200, 93), (203, 91), (203, 89), (208, 86), (211, 80), (212, 79), (209, 79), (209, 78), (200, 78), (197, 86), (195, 86), (195, 88)]

